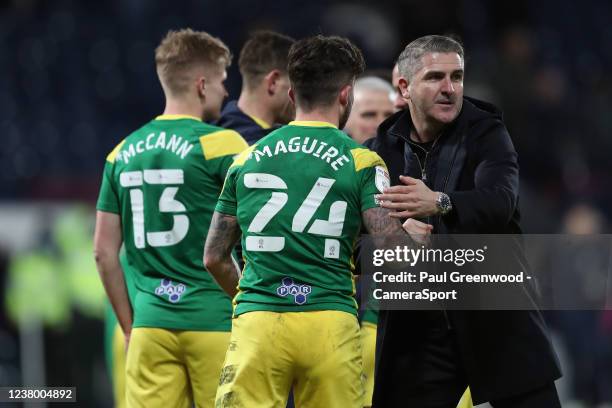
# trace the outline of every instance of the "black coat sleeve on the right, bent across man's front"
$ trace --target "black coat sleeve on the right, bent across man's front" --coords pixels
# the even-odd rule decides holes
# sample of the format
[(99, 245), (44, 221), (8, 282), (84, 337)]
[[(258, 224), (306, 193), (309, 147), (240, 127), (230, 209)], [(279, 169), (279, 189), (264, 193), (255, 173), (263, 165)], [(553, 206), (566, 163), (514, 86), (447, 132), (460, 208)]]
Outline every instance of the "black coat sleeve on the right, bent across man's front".
[(518, 205), (517, 153), (501, 121), (489, 125), (474, 142), (474, 166), (464, 169), (473, 168), (473, 189), (449, 192), (453, 211), (442, 219), (450, 231), (500, 232)]

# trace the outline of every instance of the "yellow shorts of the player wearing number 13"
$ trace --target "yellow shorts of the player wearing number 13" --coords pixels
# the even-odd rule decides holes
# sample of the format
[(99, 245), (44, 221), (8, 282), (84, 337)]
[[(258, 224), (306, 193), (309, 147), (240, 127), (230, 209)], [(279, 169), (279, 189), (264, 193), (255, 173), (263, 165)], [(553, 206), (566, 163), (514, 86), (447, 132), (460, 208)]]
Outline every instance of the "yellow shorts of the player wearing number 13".
[(213, 407), (228, 332), (132, 330), (127, 353), (128, 407)]

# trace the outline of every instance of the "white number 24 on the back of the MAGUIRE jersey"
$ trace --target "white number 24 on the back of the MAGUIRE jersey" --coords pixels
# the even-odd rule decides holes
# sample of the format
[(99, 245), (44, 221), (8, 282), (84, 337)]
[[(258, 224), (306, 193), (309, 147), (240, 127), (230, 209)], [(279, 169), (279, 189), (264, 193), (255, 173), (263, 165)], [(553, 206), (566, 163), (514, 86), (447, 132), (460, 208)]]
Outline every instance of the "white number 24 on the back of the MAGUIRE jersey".
[[(334, 179), (319, 177), (293, 216), (291, 230), (304, 232), (306, 226), (329, 193)], [(244, 175), (244, 185), (247, 188), (287, 189), (287, 184), (278, 176), (267, 173), (247, 173)], [(289, 196), (283, 192), (273, 192), (268, 202), (259, 210), (249, 225), (248, 232), (260, 233), (272, 218), (287, 204)], [(346, 201), (335, 201), (330, 206), (327, 220), (315, 220), (308, 229), (309, 234), (339, 237), (342, 235), (344, 218), (346, 216)], [(285, 237), (249, 235), (245, 239), (248, 251), (278, 252), (285, 247)], [(336, 239), (325, 240), (324, 257), (339, 258), (340, 242)]]

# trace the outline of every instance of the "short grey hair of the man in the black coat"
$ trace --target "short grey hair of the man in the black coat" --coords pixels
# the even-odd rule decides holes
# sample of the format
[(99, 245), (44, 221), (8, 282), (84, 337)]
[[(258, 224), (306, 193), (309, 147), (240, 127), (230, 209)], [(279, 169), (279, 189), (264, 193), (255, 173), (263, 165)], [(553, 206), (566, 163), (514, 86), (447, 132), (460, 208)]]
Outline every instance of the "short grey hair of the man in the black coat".
[(417, 38), (404, 48), (397, 59), (400, 75), (410, 80), (422, 68), (421, 58), (431, 52), (456, 52), (464, 60), (461, 43), (444, 35), (426, 35)]

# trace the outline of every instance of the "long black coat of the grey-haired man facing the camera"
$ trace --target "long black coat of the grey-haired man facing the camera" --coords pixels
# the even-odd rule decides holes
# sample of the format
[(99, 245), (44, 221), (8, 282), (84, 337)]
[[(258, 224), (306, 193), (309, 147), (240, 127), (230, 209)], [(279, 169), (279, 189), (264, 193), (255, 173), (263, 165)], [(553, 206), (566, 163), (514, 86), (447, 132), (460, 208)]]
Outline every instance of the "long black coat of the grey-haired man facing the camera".
[[(386, 162), (391, 184), (400, 175), (421, 178), (410, 145), (408, 110), (385, 120), (366, 146)], [(426, 184), (446, 192), (453, 211), (427, 220), (434, 233), (520, 234), (517, 154), (493, 105), (465, 97), (458, 118), (433, 146)], [(509, 397), (560, 377), (546, 325), (537, 311), (447, 311), (459, 361), (475, 404)], [(427, 325), (423, 312), (381, 311), (374, 406), (402, 406), (398, 387), (415, 370)]]

